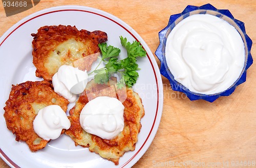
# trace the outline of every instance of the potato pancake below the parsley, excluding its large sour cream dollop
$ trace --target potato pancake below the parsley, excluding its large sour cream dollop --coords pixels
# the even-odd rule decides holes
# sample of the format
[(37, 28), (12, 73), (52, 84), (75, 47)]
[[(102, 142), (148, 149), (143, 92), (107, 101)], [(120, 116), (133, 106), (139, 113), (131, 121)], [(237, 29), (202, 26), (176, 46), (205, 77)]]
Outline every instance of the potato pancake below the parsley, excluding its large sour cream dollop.
[[(138, 140), (137, 135), (140, 132), (140, 119), (144, 116), (144, 108), (139, 95), (131, 88), (123, 87), (122, 90), (116, 90), (116, 79), (112, 78), (108, 84), (96, 84), (93, 80), (87, 84), (84, 93), (80, 95), (76, 105), (70, 110), (70, 129), (65, 133), (74, 141), (75, 145), (89, 147), (91, 152), (99, 154), (101, 157), (111, 160), (115, 165), (119, 164), (119, 158), (126, 151), (134, 151)], [(117, 94), (118, 93), (118, 94)], [(96, 135), (84, 131), (79, 122), (79, 116), (82, 108), (92, 99), (99, 96), (109, 96), (118, 99), (126, 98), (124, 105), (124, 128), (114, 139), (102, 139)]]

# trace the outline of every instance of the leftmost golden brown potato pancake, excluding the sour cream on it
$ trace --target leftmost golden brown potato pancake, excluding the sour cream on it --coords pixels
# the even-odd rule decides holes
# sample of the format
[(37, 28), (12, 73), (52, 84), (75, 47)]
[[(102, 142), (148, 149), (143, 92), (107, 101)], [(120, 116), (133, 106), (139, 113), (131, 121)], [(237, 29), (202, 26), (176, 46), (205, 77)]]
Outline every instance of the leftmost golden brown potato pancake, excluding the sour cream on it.
[(47, 81), (27, 81), (12, 85), (4, 107), (7, 128), (16, 135), (16, 141), (26, 141), (31, 151), (45, 148), (50, 140), (40, 138), (33, 129), (37, 112), (49, 105), (59, 105), (66, 111), (68, 104), (69, 101), (55, 93)]

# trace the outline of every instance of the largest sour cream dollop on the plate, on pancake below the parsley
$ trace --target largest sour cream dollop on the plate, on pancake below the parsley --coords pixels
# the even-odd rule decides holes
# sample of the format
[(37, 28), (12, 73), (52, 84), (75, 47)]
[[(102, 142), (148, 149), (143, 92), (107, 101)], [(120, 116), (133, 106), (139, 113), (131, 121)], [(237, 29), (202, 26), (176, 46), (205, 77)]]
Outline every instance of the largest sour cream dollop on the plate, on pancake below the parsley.
[(83, 107), (80, 125), (84, 131), (103, 139), (113, 139), (124, 127), (124, 106), (111, 97), (97, 97)]

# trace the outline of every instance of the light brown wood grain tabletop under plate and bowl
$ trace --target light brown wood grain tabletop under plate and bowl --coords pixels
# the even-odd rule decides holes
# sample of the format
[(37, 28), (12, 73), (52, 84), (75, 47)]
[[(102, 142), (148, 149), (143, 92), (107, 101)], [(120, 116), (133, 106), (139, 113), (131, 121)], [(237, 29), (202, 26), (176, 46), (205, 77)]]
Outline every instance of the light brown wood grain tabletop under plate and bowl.
[[(255, 0), (41, 0), (35, 7), (9, 17), (1, 3), (0, 36), (17, 21), (36, 11), (62, 5), (82, 5), (117, 16), (135, 29), (155, 53), (159, 45), (158, 32), (167, 25), (170, 15), (181, 13), (187, 5), (207, 3), (218, 9), (229, 9), (236, 19), (245, 23), (246, 33), (253, 42), (256, 41)], [(253, 44), (253, 58), (256, 57), (255, 47)], [(247, 71), (247, 81), (229, 97), (219, 98), (214, 103), (189, 101), (181, 92), (173, 91), (168, 80), (162, 77), (164, 105), (161, 123), (150, 148), (134, 167), (203, 167), (204, 164), (205, 167), (256, 167), (255, 77), (256, 67), (252, 64)], [(1, 115), (3, 112), (1, 110)], [(0, 159), (0, 168), (6, 167), (9, 166)]]

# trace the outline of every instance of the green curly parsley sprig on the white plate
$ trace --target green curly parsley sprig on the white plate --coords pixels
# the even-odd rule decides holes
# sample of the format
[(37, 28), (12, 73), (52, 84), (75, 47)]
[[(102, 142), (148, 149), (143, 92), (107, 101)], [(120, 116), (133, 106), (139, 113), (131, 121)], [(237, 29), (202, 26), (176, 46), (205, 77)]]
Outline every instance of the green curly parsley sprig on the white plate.
[(139, 77), (137, 70), (138, 67), (137, 57), (145, 57), (146, 51), (143, 49), (140, 42), (133, 41), (127, 42), (126, 38), (120, 36), (121, 45), (125, 47), (127, 51), (127, 57), (118, 60), (120, 54), (120, 49), (112, 45), (107, 45), (106, 43), (100, 43), (99, 49), (101, 51), (101, 61), (105, 63), (105, 67), (100, 69), (95, 69), (94, 80), (98, 84), (107, 83), (109, 78), (114, 74), (120, 73), (121, 79), (117, 83), (118, 88), (122, 88), (125, 85), (132, 87)]

